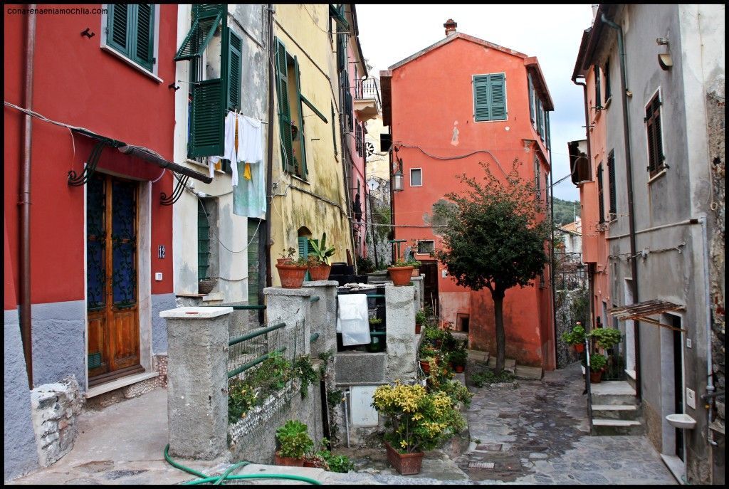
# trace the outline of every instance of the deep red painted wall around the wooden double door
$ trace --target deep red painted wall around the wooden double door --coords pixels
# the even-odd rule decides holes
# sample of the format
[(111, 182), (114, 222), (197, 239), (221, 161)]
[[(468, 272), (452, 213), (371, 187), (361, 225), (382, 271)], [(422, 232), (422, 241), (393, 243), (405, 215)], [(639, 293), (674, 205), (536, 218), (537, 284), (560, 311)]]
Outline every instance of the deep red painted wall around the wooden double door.
[[(52, 6), (44, 6), (52, 7)], [(69, 7), (69, 6), (63, 6)], [(101, 7), (84, 5), (84, 8)], [(142, 74), (101, 49), (101, 14), (36, 15), (33, 109), (51, 120), (87, 128), (95, 133), (146, 146), (165, 159), (173, 157), (176, 5), (160, 7), (158, 77)], [(25, 15), (4, 13), (5, 100), (23, 106), (25, 76)], [(80, 36), (86, 28), (91, 39)], [(9, 255), (18, 254), (18, 192), (22, 164), (23, 114), (4, 109), (5, 196)], [(75, 156), (74, 156), (75, 144)], [(34, 118), (31, 170), (31, 297), (32, 302), (83, 300), (84, 188), (70, 187), (67, 173), (80, 173), (93, 141), (67, 128)], [(105, 148), (99, 168), (136, 179), (160, 176), (156, 165)], [(160, 206), (160, 192), (170, 194), (169, 172), (152, 185), (152, 294), (172, 292), (172, 209)], [(157, 259), (157, 245), (167, 249)], [(7, 261), (7, 259), (6, 259)], [(6, 266), (7, 274), (10, 270)], [(12, 267), (17, 288), (18, 270)], [(7, 300), (6, 300), (7, 302)], [(7, 303), (6, 303), (7, 308)]]

